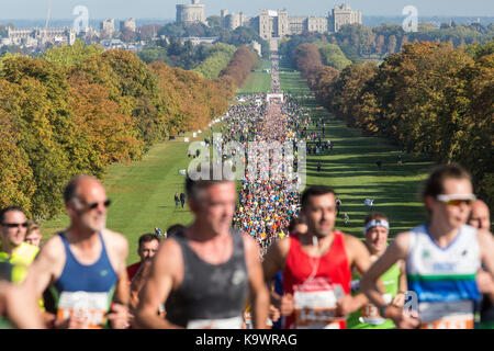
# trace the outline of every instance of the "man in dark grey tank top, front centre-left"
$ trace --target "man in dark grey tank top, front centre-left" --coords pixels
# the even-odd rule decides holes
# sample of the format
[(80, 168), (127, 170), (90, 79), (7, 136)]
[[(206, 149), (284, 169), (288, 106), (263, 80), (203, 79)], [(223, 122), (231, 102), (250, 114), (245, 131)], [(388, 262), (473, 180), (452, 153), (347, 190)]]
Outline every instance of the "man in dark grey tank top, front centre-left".
[[(269, 293), (259, 248), (252, 238), (232, 231), (235, 183), (186, 180), (188, 205), (195, 219), (170, 236), (155, 256), (136, 313), (141, 328), (239, 329), (247, 295), (255, 328), (265, 328)], [(166, 302), (166, 319), (156, 315)]]

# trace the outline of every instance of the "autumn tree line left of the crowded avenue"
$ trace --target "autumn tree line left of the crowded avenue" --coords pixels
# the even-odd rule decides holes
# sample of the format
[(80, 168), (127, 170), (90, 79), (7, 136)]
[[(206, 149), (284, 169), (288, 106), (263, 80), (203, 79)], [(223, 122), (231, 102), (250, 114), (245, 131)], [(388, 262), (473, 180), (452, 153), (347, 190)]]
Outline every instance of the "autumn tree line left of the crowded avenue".
[(156, 141), (206, 127), (227, 111), (252, 58), (242, 46), (213, 81), (82, 43), (43, 58), (1, 57), (0, 207), (49, 218), (61, 212), (72, 176), (103, 178), (113, 162), (138, 160)]

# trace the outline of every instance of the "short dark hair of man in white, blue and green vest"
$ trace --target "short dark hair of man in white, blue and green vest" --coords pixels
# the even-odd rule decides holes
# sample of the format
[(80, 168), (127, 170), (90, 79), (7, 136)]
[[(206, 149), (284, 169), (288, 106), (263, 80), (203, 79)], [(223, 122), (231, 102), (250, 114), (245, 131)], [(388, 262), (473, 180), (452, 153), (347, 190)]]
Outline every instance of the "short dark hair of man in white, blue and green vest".
[(442, 194), (445, 191), (444, 184), (447, 179), (465, 179), (471, 182), (472, 176), (458, 163), (439, 166), (430, 172), (429, 178), (424, 184), (423, 200), (429, 195), (436, 197)]

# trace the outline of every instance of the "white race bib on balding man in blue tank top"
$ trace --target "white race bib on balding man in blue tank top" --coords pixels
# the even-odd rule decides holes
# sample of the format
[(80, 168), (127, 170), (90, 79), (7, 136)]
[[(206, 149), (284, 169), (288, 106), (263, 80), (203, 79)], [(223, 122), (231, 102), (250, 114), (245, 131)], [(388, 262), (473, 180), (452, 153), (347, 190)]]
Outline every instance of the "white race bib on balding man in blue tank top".
[(109, 309), (109, 293), (63, 292), (58, 302), (57, 319), (71, 316), (85, 320), (83, 328), (102, 329)]

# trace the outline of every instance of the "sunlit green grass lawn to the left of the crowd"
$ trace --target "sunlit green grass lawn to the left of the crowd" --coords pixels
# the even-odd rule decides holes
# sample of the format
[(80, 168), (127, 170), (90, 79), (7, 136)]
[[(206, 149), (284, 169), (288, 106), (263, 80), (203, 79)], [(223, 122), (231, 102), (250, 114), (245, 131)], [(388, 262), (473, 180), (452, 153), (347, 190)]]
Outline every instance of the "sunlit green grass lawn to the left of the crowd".
[[(218, 125), (216, 125), (218, 126)], [(214, 128), (217, 132), (217, 128)], [(190, 140), (203, 140), (211, 132), (205, 131)], [(142, 234), (154, 233), (155, 227), (166, 230), (172, 224), (188, 224), (192, 219), (187, 204), (182, 210), (175, 208), (173, 195), (183, 189), (184, 176), (180, 169), (187, 169), (188, 143), (183, 136), (176, 140), (154, 145), (141, 161), (131, 165), (113, 165), (104, 179), (104, 186), (112, 205), (108, 212), (108, 228), (122, 233), (128, 240), (127, 262), (138, 260), (137, 239)], [(43, 239), (63, 230), (69, 224), (67, 215), (59, 215), (44, 222)]]

